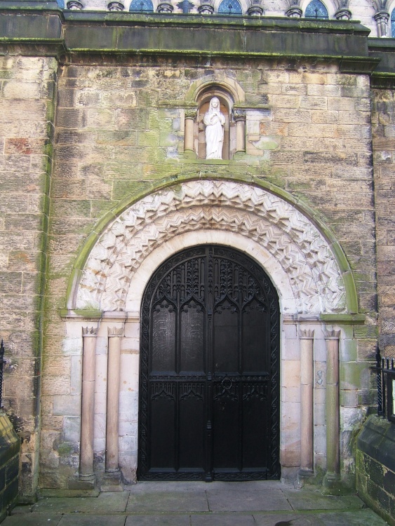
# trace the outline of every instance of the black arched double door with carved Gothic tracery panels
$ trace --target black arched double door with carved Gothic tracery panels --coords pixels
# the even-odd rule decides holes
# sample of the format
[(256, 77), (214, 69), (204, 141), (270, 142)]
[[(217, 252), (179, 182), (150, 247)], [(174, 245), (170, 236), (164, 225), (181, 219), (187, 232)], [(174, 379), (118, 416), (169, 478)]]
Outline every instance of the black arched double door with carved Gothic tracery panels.
[(201, 245), (142, 302), (138, 478), (279, 478), (279, 301), (245, 254)]

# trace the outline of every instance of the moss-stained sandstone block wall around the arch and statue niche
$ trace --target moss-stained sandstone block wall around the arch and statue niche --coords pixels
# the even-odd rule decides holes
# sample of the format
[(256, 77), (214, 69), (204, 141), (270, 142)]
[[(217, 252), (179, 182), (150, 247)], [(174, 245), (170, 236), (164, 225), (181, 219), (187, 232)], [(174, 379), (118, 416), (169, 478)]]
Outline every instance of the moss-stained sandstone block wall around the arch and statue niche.
[[(183, 154), (184, 110), (177, 101), (205, 76), (238, 82), (252, 107), (267, 104), (248, 110), (247, 151), (232, 161)], [(121, 199), (165, 178), (188, 177), (271, 182), (309, 205), (340, 241), (355, 273), (360, 310), (368, 315), (367, 325), (347, 328), (340, 349), (343, 468), (352, 475), (352, 430), (371, 401), (368, 360), (377, 335), (368, 76), (340, 74), (335, 63), (218, 60), (199, 67), (163, 59), (65, 66), (58, 89), (41, 487), (67, 487), (78, 468), (81, 338), (66, 334), (59, 315), (74, 259), (95, 223)], [(100, 345), (98, 353), (105, 351)], [(96, 383), (102, 391), (103, 378)], [(316, 457), (324, 462), (323, 442), (316, 444)], [(103, 452), (97, 454), (100, 461)]]

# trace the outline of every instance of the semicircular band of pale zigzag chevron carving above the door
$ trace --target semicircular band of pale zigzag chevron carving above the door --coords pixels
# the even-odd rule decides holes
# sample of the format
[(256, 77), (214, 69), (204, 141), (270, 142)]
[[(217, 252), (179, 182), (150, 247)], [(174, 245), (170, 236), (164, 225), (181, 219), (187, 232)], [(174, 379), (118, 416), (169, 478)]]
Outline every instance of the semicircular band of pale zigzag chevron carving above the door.
[(314, 224), (264, 189), (221, 181), (163, 189), (109, 224), (83, 269), (76, 308), (123, 310), (130, 280), (149, 252), (199, 229), (237, 232), (265, 247), (288, 274), (300, 313), (345, 312), (340, 269)]

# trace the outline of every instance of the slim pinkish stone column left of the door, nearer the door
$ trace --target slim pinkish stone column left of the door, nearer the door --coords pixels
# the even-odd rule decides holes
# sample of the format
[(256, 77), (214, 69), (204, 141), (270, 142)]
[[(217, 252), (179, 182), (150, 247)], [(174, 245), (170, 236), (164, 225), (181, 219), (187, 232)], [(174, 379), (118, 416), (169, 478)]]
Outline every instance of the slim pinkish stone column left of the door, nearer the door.
[(106, 473), (102, 491), (119, 489), (119, 378), (123, 328), (108, 328)]

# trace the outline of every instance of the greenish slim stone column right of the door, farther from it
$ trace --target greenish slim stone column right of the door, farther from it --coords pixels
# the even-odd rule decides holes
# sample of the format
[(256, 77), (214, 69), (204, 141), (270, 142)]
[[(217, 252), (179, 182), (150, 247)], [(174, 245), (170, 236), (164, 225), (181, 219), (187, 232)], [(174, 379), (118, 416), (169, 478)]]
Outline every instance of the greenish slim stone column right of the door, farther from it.
[(332, 490), (340, 482), (340, 330), (326, 330), (326, 476), (324, 486)]

